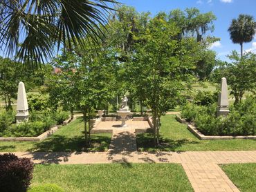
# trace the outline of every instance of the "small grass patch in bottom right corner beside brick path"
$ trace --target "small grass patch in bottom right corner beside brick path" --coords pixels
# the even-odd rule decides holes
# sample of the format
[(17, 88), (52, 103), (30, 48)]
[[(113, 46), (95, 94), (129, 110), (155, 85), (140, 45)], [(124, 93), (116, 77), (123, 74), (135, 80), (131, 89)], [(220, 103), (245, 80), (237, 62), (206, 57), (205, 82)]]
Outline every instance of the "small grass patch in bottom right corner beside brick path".
[(221, 169), (240, 191), (256, 191), (256, 164), (224, 164)]

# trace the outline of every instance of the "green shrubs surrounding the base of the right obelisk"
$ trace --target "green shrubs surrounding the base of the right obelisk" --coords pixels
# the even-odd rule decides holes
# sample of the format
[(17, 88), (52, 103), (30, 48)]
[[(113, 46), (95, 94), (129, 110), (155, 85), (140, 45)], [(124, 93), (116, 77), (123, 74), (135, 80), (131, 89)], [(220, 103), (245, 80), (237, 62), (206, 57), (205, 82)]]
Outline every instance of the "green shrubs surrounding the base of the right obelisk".
[(204, 135), (255, 135), (256, 101), (248, 97), (237, 106), (230, 107), (228, 117), (216, 117), (217, 105), (196, 106), (187, 104), (181, 116), (194, 121), (196, 128)]

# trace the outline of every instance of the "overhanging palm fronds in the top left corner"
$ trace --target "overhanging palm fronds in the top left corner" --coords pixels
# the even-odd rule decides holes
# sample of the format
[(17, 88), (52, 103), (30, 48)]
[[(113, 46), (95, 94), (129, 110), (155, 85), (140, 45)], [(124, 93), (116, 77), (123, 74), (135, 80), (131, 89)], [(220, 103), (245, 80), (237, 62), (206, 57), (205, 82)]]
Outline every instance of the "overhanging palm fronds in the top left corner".
[(97, 41), (116, 0), (1, 0), (0, 48), (34, 67), (60, 46)]

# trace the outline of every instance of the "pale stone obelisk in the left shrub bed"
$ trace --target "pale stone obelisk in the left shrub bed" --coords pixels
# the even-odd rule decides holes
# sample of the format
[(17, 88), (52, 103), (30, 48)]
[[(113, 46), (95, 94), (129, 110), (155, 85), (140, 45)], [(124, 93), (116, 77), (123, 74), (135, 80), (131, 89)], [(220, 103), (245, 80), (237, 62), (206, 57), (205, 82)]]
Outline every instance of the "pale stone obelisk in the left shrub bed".
[(23, 82), (19, 82), (18, 98), (17, 98), (17, 115), (16, 122), (24, 122), (28, 120), (28, 101)]

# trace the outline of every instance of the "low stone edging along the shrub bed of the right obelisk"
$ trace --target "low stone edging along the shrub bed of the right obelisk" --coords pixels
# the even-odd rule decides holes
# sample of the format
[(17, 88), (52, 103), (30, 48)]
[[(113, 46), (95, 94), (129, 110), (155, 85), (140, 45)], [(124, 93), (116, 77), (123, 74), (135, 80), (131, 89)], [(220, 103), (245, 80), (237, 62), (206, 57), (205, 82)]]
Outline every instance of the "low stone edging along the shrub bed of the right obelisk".
[(176, 119), (178, 122), (183, 124), (188, 124), (188, 130), (193, 133), (199, 140), (256, 140), (256, 135), (248, 135), (248, 136), (210, 136), (210, 135), (203, 135), (195, 126), (182, 119), (180, 115), (176, 115)]

